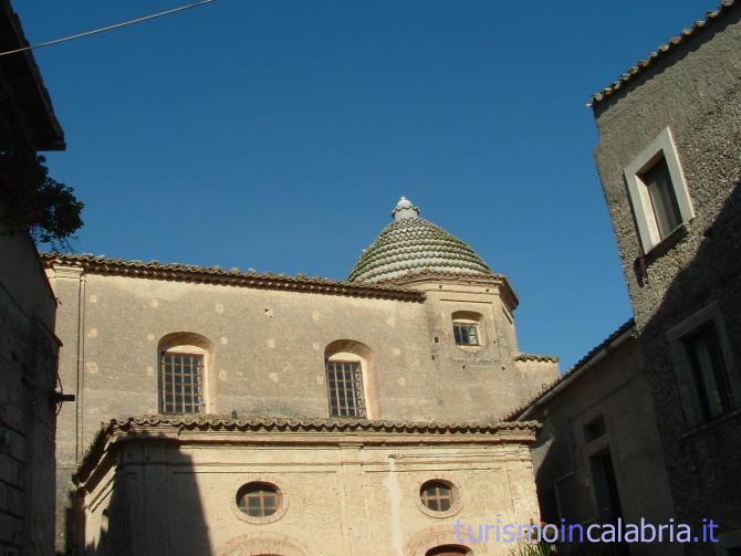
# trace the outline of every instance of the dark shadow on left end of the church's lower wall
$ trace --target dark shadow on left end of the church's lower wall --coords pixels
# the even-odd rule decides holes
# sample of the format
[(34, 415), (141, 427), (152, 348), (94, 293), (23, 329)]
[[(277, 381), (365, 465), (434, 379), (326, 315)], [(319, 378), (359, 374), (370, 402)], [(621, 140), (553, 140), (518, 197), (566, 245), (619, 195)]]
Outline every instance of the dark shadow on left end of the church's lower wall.
[(149, 434), (111, 449), (74, 496), (80, 554), (211, 556), (194, 465), (177, 442)]

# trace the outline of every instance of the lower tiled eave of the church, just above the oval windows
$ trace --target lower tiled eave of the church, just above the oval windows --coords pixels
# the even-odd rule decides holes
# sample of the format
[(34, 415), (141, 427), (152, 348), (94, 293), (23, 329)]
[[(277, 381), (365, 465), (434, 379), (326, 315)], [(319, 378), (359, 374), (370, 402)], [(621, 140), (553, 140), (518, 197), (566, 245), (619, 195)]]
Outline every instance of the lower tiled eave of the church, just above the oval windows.
[(113, 437), (127, 433), (148, 432), (161, 434), (163, 429), (178, 431), (222, 431), (222, 432), (312, 432), (312, 433), (386, 433), (386, 434), (495, 434), (505, 431), (521, 431), (534, 434), (541, 424), (536, 421), (511, 422), (420, 422), (380, 421), (368, 419), (288, 419), (274, 417), (225, 417), (225, 416), (163, 416), (129, 417), (112, 419), (102, 423), (93, 444), (85, 454), (75, 480), (84, 480), (101, 459), (105, 445)]

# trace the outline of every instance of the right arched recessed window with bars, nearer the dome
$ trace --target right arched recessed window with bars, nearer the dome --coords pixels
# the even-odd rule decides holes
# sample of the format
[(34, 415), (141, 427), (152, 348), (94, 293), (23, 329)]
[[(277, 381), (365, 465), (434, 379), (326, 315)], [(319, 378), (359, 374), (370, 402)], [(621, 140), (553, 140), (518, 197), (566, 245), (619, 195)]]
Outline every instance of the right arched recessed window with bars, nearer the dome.
[(332, 342), (324, 350), (330, 417), (378, 417), (373, 353), (352, 339)]

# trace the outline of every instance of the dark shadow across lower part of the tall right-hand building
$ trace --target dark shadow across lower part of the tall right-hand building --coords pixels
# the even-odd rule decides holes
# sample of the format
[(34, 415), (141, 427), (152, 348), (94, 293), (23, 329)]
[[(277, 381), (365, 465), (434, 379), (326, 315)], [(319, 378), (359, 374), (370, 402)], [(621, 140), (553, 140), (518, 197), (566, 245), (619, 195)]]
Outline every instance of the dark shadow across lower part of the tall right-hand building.
[[(735, 139), (729, 136), (733, 140), (738, 144), (738, 132)], [(690, 223), (705, 225), (696, 231), (702, 234), (697, 253), (671, 279), (640, 342), (656, 411), (661, 415), (658, 428), (675, 503), (678, 511), (683, 508), (685, 515), (677, 517), (695, 523), (713, 517), (722, 534), (741, 528), (741, 177), (738, 158), (716, 164), (734, 165), (727, 174), (733, 176), (731, 195), (712, 223), (698, 224), (701, 214)], [(660, 255), (665, 256), (671, 258), (672, 252)], [(666, 269), (670, 263), (648, 261), (639, 283), (644, 279), (651, 287), (651, 281), (661, 280), (653, 264)], [(726, 405), (720, 411), (709, 410), (709, 402), (702, 399), (701, 366), (691, 360), (692, 338), (708, 327), (717, 335), (714, 360), (727, 379), (720, 386), (728, 390), (724, 403), (718, 402)]]

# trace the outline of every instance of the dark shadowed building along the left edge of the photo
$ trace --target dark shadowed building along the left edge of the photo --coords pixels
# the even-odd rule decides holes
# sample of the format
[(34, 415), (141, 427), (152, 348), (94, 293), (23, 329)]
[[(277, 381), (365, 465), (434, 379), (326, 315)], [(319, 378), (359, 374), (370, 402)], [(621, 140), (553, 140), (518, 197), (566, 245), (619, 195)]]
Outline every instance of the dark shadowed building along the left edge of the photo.
[[(7, 0), (0, 52), (28, 45)], [(30, 52), (0, 59), (0, 150), (34, 160), (64, 148), (64, 135)], [(3, 158), (0, 188), (28, 179)], [(0, 216), (8, 207), (0, 203)], [(56, 302), (33, 241), (0, 224), (0, 555), (51, 555), (54, 547)]]

